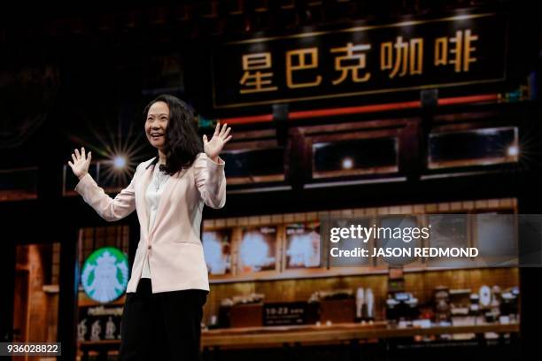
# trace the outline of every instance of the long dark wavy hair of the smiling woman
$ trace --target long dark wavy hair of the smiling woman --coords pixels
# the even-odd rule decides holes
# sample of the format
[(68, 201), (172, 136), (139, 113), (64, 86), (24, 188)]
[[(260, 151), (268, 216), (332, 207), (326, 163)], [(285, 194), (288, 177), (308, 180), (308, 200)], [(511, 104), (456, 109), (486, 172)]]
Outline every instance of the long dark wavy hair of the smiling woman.
[[(176, 96), (163, 94), (147, 104), (143, 116), (147, 117), (152, 104), (164, 102), (169, 108), (169, 120), (166, 127), (166, 165), (160, 169), (173, 175), (185, 168), (190, 168), (197, 154), (203, 151), (203, 144), (197, 134), (197, 120), (190, 105)], [(158, 163), (156, 157), (151, 163)]]

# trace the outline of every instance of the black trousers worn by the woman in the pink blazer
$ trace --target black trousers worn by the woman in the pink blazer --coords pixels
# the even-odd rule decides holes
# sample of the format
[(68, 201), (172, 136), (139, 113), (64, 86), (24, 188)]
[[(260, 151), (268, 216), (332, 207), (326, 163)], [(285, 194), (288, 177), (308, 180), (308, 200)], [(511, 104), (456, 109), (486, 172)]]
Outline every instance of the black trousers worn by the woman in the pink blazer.
[(120, 360), (200, 360), (207, 294), (203, 289), (152, 294), (151, 280), (139, 280), (122, 313)]

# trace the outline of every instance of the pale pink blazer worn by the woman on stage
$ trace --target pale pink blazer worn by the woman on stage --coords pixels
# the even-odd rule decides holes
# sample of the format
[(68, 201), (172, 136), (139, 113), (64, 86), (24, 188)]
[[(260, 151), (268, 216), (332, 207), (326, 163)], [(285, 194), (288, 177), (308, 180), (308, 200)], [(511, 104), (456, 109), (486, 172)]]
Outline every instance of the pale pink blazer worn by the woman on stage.
[(190, 168), (166, 180), (159, 200), (154, 226), (148, 231), (149, 215), (145, 189), (152, 177), (149, 159), (137, 166), (127, 188), (114, 198), (105, 194), (89, 174), (81, 178), (75, 191), (105, 220), (123, 219), (134, 210), (141, 227), (132, 275), (127, 292), (136, 292), (149, 255), (152, 293), (182, 289), (209, 290), (203, 246), (200, 241), (201, 212), (204, 204), (221, 208), (226, 203), (224, 161), (213, 162), (200, 153)]

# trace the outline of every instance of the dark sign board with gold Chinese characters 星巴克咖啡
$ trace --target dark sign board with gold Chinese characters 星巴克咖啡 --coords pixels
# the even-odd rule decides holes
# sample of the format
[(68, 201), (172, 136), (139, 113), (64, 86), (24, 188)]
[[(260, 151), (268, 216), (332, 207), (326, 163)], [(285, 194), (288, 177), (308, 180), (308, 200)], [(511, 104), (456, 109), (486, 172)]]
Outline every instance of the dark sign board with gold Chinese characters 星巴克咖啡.
[(504, 81), (495, 13), (228, 42), (213, 52), (213, 105), (235, 108)]

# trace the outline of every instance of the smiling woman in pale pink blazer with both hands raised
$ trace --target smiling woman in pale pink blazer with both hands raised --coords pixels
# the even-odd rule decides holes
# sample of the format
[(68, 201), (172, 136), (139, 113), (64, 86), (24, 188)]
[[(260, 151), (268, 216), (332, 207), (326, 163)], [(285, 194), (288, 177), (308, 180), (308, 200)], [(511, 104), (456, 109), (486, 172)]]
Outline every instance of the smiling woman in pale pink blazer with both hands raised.
[(111, 198), (89, 175), (91, 152), (75, 150), (68, 165), (75, 190), (108, 221), (137, 211), (141, 238), (128, 282), (121, 324), (121, 360), (197, 360), (209, 281), (200, 241), (204, 204), (226, 202), (224, 161), (230, 128), (217, 124), (211, 140), (197, 135), (182, 100), (159, 96), (145, 108), (145, 134), (158, 157), (136, 168), (127, 188)]

